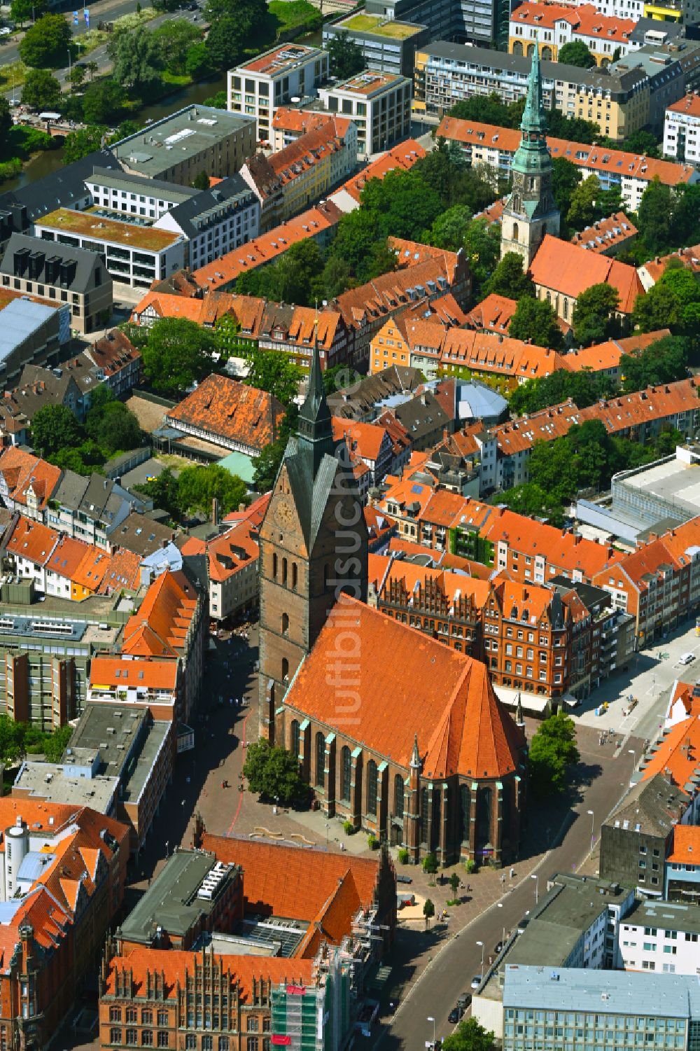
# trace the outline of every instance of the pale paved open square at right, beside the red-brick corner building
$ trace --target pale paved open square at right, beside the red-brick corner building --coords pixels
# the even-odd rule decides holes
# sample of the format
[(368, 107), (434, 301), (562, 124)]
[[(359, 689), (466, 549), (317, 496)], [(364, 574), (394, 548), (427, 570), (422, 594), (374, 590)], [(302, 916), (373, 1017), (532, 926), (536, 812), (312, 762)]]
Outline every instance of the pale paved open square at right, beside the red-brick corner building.
[[(695, 656), (689, 664), (680, 663), (683, 654)], [(663, 726), (671, 687), (676, 679), (695, 682), (700, 676), (700, 638), (695, 620), (687, 621), (668, 638), (650, 650), (635, 654), (629, 672), (611, 676), (576, 709), (577, 721), (598, 729), (610, 729), (622, 737), (653, 740)], [(636, 698), (634, 710), (624, 715), (627, 698)], [(608, 702), (608, 710), (596, 716), (595, 709)]]

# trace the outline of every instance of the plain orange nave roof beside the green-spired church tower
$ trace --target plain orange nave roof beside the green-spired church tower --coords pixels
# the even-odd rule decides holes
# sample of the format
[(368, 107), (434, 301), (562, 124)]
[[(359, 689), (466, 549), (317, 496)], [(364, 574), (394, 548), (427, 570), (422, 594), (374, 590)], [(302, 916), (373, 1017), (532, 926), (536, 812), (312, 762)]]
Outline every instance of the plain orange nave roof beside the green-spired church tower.
[(577, 298), (591, 285), (606, 284), (617, 289), (618, 310), (630, 314), (644, 288), (633, 266), (596, 255), (583, 248), (547, 234), (530, 264), (535, 285)]

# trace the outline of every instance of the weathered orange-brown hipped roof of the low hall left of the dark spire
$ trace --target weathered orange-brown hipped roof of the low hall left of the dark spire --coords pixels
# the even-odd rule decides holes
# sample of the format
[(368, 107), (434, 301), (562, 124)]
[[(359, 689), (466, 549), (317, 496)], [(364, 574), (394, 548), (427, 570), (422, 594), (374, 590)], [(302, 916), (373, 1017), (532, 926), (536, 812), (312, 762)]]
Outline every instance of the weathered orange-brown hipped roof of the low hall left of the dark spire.
[(258, 451), (277, 436), (284, 406), (267, 391), (215, 373), (207, 376), (195, 391), (172, 409), (170, 426), (185, 424), (208, 434)]

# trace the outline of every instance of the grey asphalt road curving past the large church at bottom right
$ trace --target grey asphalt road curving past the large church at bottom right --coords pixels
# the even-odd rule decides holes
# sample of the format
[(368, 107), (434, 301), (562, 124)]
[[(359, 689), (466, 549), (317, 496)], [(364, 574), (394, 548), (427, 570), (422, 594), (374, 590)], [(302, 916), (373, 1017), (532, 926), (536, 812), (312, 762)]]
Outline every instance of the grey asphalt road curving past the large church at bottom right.
[[(593, 750), (593, 741), (589, 731), (586, 745), (579, 743), (582, 761), (591, 765), (600, 759)], [(635, 742), (636, 739), (631, 739), (631, 745)], [(624, 794), (632, 769), (633, 757), (626, 749), (617, 759), (606, 759), (600, 775), (584, 789), (582, 798), (576, 803), (573, 821), (560, 845), (545, 856), (536, 870), (539, 875), (539, 891), (543, 892), (547, 879), (553, 872), (571, 872), (585, 859), (591, 847), (591, 818), (586, 811), (594, 811), (598, 834), (600, 823)], [(472, 977), (481, 970), (481, 948), (476, 943), (483, 942), (488, 962), (496, 943), (501, 940), (503, 928), (506, 931), (512, 930), (533, 907), (535, 889), (535, 881), (530, 878), (518, 882), (515, 865), (513, 890), (501, 899), (501, 907), (494, 905), (487, 909), (440, 949), (399, 1005), (391, 1019), (391, 1026), (378, 1036), (375, 1048), (380, 1048), (382, 1051), (418, 1051), (424, 1048), (426, 1042), (432, 1040), (433, 1036), (433, 1024), (427, 1021), (429, 1015), (435, 1018), (436, 1035), (441, 1038), (449, 1036), (454, 1027), (449, 1025), (447, 1016), (457, 997), (462, 992), (470, 991)]]

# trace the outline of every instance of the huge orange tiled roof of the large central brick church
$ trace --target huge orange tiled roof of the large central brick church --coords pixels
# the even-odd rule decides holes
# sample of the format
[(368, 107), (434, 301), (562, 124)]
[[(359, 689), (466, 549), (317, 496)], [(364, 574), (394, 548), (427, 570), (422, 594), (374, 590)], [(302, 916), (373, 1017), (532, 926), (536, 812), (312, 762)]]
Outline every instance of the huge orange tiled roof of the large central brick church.
[(363, 683), (354, 740), (408, 768), (417, 735), (425, 777), (497, 778), (516, 769), (524, 739), (497, 701), (486, 665), (347, 596), (296, 673), (285, 697), (288, 708), (322, 725), (336, 724), (327, 662), (336, 636), (348, 631), (357, 640), (353, 660)]

